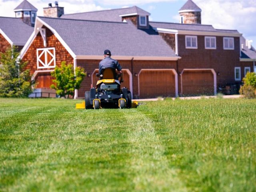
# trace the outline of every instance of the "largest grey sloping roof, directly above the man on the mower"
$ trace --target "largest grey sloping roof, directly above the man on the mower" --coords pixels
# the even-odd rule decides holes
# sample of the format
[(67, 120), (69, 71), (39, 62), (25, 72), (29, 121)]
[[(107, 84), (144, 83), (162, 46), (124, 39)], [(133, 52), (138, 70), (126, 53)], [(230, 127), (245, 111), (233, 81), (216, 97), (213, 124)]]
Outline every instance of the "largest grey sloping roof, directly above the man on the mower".
[(132, 22), (102, 22), (39, 17), (58, 32), (76, 55), (176, 57), (154, 29), (140, 30)]

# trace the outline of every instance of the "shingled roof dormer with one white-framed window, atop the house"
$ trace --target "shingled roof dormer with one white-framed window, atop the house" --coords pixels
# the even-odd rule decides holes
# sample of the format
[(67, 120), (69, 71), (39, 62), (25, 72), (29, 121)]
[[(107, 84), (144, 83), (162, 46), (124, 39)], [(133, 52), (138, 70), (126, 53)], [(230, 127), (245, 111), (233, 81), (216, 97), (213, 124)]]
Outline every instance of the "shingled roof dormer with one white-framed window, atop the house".
[(131, 20), (132, 23), (140, 29), (148, 29), (149, 21), (148, 17), (150, 16), (149, 12), (144, 11), (137, 6), (133, 6), (131, 8), (127, 8), (124, 14), (119, 15), (122, 17), (122, 21), (126, 22), (127, 20)]

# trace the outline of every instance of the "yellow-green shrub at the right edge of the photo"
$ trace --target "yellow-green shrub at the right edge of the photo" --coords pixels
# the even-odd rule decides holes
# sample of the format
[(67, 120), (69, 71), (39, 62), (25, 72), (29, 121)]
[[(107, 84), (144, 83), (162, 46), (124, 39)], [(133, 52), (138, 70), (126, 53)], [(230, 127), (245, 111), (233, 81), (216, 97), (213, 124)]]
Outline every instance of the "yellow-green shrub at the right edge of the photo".
[(245, 98), (256, 98), (256, 74), (247, 73), (243, 78), (244, 85), (240, 87), (239, 93)]

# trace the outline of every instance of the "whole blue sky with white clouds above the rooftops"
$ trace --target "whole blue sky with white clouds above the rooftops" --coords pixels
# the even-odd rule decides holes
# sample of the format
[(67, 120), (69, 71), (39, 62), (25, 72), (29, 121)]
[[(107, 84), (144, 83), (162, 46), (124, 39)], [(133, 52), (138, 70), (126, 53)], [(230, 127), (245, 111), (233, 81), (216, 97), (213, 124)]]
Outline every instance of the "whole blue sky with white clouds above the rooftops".
[[(28, 0), (43, 16), (43, 7), (55, 0)], [(256, 46), (256, 0), (193, 0), (202, 9), (202, 24), (218, 29), (236, 29)], [(22, 0), (0, 0), (0, 16), (14, 17)], [(151, 13), (150, 20), (179, 22), (178, 10), (186, 0), (59, 0), (66, 14), (138, 6)]]

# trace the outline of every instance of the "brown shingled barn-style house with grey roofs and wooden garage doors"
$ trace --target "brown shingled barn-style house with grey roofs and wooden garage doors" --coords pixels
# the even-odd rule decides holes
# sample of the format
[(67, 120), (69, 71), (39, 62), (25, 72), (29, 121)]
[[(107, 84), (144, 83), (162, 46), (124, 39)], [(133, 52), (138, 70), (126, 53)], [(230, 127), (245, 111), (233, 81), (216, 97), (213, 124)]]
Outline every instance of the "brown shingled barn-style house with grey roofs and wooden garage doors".
[(150, 22), (150, 13), (136, 6), (64, 14), (63, 7), (49, 4), (44, 17), (36, 17), (20, 58), (28, 61), (38, 88), (50, 88), (50, 72), (62, 61), (82, 66), (87, 77), (75, 98), (95, 86), (105, 49), (122, 65), (121, 85), (133, 98), (213, 95), (227, 84), (239, 87), (246, 72), (256, 71), (256, 51), (237, 30), (202, 25), (192, 0), (179, 14), (180, 23)]

